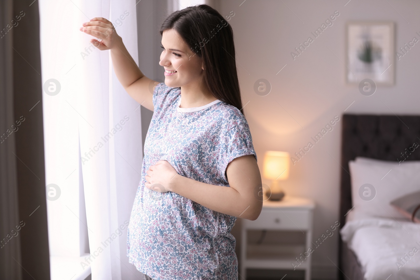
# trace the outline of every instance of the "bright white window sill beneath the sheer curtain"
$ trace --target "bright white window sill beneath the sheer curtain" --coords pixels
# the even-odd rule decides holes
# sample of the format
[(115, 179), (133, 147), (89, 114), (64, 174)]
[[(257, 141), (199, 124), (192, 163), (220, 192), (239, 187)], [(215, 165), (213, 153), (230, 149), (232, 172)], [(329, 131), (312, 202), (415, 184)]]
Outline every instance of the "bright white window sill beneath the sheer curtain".
[(50, 256), (51, 280), (85, 280), (91, 274), (90, 265), (83, 269), (80, 262), (87, 256)]

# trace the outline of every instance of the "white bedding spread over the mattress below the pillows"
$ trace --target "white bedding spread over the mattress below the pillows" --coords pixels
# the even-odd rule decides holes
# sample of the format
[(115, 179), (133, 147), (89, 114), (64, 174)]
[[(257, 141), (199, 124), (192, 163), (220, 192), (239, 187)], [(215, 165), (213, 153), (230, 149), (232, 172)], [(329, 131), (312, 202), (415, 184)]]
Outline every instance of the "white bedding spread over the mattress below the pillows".
[(366, 280), (420, 280), (420, 224), (354, 211), (348, 215), (341, 237), (359, 259)]

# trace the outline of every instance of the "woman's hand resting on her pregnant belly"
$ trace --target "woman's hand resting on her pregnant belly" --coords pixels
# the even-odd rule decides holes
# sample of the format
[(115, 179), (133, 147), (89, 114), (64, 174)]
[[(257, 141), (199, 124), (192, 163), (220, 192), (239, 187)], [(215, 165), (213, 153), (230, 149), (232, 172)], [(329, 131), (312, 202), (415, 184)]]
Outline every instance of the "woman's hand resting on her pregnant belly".
[(165, 193), (171, 191), (175, 180), (172, 180), (178, 173), (175, 168), (166, 160), (159, 160), (155, 165), (151, 165), (144, 176), (147, 183), (144, 185), (152, 191)]

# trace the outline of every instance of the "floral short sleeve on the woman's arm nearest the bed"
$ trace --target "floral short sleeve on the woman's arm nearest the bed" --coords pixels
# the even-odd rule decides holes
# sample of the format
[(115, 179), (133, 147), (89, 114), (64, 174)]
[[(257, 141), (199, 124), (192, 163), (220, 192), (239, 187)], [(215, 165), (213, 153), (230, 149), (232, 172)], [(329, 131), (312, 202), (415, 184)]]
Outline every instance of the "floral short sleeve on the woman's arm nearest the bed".
[(226, 181), (228, 181), (226, 167), (236, 157), (253, 154), (255, 160), (257, 160), (257, 153), (255, 153), (254, 146), (252, 145), (251, 132), (246, 121), (237, 123), (222, 133), (220, 145), (218, 168), (222, 178)]

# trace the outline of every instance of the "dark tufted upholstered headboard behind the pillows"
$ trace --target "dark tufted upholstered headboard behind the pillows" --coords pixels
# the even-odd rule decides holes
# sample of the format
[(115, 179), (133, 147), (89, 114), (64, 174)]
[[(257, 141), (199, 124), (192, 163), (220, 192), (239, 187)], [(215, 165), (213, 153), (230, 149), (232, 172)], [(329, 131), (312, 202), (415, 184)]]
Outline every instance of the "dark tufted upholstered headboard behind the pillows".
[[(420, 144), (420, 115), (343, 115), (341, 135), (340, 226), (352, 208), (349, 160), (371, 157), (378, 160), (404, 160), (402, 154)], [(420, 147), (406, 160), (420, 160)]]

